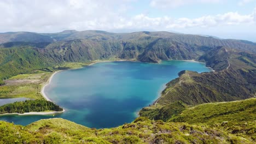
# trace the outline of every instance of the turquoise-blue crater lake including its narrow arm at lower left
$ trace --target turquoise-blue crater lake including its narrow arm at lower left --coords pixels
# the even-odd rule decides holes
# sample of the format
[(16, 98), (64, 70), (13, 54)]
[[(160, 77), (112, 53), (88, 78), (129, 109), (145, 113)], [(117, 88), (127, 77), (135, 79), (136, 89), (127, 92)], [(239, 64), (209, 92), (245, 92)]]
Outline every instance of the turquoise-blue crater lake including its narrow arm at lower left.
[(48, 116), (1, 116), (0, 120), (26, 125), (42, 118), (61, 117), (94, 128), (132, 122), (138, 110), (152, 104), (165, 84), (181, 70), (211, 71), (189, 61), (102, 62), (57, 73), (45, 93), (65, 113)]

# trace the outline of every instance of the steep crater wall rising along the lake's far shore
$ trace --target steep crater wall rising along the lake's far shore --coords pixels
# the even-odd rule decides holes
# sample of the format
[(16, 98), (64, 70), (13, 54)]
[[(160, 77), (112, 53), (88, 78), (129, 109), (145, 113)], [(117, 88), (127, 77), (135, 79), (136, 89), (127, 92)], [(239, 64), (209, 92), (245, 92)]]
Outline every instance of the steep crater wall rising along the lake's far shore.
[(1, 80), (63, 62), (120, 58), (156, 63), (160, 59), (195, 59), (206, 50), (201, 46), (144, 35), (126, 42), (95, 37), (54, 43), (9, 42), (1, 44), (0, 47)]

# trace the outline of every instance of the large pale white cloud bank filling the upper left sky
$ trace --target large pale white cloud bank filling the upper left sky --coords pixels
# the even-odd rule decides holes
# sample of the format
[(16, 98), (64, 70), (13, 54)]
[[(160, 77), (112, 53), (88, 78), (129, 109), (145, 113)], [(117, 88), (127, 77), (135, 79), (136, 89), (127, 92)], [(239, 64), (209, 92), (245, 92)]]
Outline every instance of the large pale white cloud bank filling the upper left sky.
[[(125, 10), (117, 5), (129, 0), (0, 1), (0, 32), (60, 31), (61, 29), (100, 29), (114, 23)], [(124, 7), (124, 6), (123, 6)], [(110, 26), (107, 26), (110, 27)]]

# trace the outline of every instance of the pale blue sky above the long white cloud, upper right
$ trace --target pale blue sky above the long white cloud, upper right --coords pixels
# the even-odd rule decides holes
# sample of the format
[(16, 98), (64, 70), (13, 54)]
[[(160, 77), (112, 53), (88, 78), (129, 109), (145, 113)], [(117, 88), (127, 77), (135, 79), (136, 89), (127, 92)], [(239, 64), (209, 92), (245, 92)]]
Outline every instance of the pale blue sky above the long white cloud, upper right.
[[(175, 0), (174, 0), (175, 1)], [(147, 13), (150, 17), (170, 16), (174, 18), (188, 17), (196, 18), (203, 15), (217, 15), (230, 11), (240, 14), (252, 13), (256, 7), (255, 1), (223, 0), (223, 1), (184, 1), (183, 4), (171, 5), (173, 1), (155, 1), (162, 4), (150, 4), (152, 1), (132, 1), (130, 16)], [(180, 1), (182, 2), (182, 1)], [(241, 4), (240, 2), (244, 2)], [(162, 7), (165, 6), (165, 7)]]

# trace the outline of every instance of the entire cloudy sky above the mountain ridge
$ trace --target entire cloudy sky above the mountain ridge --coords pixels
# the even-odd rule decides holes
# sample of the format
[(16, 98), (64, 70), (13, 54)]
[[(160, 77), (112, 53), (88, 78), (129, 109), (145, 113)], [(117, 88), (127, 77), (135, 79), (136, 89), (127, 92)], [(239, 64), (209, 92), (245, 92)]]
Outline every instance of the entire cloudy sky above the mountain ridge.
[(1, 0), (0, 32), (170, 31), (256, 41), (256, 0)]

